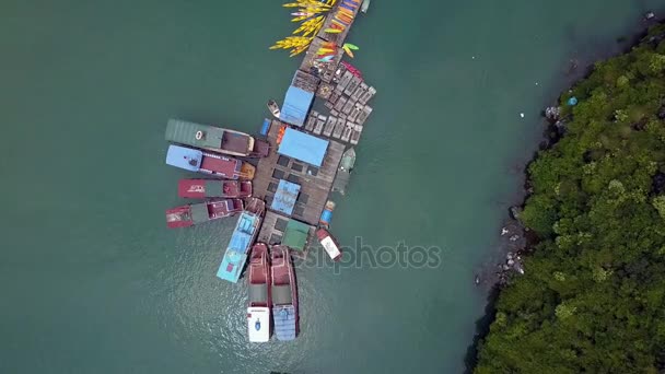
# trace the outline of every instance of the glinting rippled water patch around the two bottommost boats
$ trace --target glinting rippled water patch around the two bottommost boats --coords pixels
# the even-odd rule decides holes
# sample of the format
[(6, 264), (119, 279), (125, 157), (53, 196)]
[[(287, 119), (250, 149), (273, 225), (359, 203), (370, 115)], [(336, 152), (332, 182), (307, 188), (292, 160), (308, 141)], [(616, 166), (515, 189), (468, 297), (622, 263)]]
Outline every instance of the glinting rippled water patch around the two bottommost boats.
[[(182, 340), (199, 340), (217, 354), (224, 373), (252, 373), (257, 367), (289, 370), (305, 364), (306, 348), (320, 343), (317, 337), (334, 322), (330, 301), (325, 296), (322, 269), (296, 269), (300, 301), (300, 335), (295, 341), (280, 342), (275, 337), (262, 344), (247, 341), (246, 278), (237, 284), (214, 274), (231, 236), (235, 220), (192, 227), (177, 235), (176, 249), (164, 256), (170, 266), (160, 271), (166, 293), (160, 308), (163, 326)], [(318, 273), (317, 273), (318, 272)], [(337, 279), (336, 279), (337, 280)], [(180, 340), (180, 339), (178, 339)], [(272, 367), (279, 362), (280, 367)]]

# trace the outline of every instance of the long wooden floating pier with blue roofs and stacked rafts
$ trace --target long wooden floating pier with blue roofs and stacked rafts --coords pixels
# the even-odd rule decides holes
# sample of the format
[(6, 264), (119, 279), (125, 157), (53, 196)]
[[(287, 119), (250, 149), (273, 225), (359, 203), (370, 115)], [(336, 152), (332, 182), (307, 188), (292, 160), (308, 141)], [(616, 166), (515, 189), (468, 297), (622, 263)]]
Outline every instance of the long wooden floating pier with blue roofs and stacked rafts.
[[(342, 154), (347, 163), (351, 155), (355, 160), (352, 147), (361, 141), (372, 114), (368, 103), (376, 90), (360, 70), (342, 61), (342, 46), (361, 1), (338, 0), (293, 74), (279, 118), (262, 122), (270, 152), (258, 161), (253, 182), (253, 196), (267, 209), (257, 241), (285, 245), (295, 256), (305, 257), (316, 241), (326, 203), (334, 206), (330, 194), (346, 192), (350, 170), (340, 166)], [(342, 31), (326, 33), (329, 28)], [(323, 60), (322, 48), (334, 52)], [(329, 218), (328, 212), (326, 225)]]

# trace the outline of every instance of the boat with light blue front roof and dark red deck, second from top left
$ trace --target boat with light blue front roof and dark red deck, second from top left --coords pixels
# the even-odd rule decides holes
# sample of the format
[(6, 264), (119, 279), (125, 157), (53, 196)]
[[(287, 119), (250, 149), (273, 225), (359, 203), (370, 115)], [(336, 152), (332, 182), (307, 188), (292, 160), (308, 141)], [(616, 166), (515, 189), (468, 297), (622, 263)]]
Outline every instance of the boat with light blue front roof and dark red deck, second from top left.
[(256, 173), (256, 167), (247, 162), (175, 144), (168, 145), (166, 164), (226, 179), (250, 180)]

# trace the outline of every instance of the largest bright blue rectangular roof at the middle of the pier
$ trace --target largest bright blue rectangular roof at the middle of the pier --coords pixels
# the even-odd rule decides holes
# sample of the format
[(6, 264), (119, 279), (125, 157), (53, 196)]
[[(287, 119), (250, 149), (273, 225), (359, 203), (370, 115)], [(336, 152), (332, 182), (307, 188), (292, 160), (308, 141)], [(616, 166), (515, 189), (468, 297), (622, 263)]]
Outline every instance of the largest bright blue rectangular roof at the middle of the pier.
[(328, 143), (328, 140), (287, 128), (277, 153), (320, 167)]

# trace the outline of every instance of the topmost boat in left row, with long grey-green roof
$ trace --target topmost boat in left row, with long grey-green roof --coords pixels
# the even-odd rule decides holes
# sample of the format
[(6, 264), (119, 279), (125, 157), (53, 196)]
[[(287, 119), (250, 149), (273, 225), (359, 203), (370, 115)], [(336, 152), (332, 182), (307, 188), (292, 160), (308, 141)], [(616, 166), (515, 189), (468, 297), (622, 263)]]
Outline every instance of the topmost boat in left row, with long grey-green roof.
[(243, 157), (265, 157), (269, 148), (267, 142), (245, 132), (180, 119), (168, 120), (165, 138), (174, 143)]

